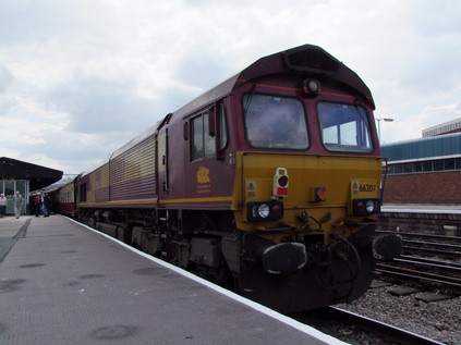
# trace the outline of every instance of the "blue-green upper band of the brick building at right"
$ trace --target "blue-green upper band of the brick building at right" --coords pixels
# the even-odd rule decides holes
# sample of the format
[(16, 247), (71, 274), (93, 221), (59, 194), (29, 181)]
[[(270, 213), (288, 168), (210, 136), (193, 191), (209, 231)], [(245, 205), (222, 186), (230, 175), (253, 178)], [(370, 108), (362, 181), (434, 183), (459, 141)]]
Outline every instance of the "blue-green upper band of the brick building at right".
[(461, 133), (385, 144), (381, 146), (381, 152), (389, 162), (448, 156), (461, 157)]

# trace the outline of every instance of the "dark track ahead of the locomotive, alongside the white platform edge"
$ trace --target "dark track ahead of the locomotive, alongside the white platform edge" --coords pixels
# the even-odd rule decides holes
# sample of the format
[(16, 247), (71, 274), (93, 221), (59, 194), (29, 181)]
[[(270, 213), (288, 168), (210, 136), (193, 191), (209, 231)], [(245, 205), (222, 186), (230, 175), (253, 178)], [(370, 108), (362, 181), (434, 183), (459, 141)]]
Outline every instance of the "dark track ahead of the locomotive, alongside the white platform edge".
[[(377, 321), (337, 307), (328, 307), (296, 315), (295, 319), (315, 326), (324, 333), (350, 344), (363, 344), (359, 338), (366, 338), (369, 344), (401, 345), (441, 345), (438, 341), (409, 332), (395, 325)], [(340, 331), (338, 331), (340, 330)], [(360, 336), (357, 336), (359, 333)]]

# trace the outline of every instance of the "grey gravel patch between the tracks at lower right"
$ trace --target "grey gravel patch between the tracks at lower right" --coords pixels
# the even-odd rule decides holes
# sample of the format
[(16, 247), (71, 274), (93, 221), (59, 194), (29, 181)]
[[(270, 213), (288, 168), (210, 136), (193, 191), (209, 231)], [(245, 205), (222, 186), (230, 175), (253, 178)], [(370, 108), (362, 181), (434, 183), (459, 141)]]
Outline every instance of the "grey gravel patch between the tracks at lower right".
[(395, 286), (371, 288), (357, 300), (337, 307), (445, 344), (461, 344), (461, 297), (425, 303), (416, 299), (423, 293), (390, 295)]

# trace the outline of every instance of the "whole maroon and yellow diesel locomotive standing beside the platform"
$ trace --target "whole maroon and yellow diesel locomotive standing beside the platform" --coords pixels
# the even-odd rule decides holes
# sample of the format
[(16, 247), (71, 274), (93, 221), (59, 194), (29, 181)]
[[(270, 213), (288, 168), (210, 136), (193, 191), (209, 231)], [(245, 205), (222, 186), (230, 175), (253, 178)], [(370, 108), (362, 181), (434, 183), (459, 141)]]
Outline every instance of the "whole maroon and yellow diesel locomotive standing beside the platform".
[(324, 49), (262, 58), (74, 182), (75, 217), (282, 312), (360, 297), (384, 159), (368, 87)]

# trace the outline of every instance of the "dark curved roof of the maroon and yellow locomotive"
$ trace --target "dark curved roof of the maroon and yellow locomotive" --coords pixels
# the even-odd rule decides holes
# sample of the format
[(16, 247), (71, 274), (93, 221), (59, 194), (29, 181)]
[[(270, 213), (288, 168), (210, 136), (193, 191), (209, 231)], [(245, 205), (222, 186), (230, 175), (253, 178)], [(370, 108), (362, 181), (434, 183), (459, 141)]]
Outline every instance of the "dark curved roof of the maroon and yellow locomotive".
[(324, 79), (335, 79), (336, 82), (347, 85), (349, 88), (355, 90), (356, 94), (366, 99), (368, 104), (375, 109), (372, 93), (355, 72), (350, 70), (323, 48), (313, 45), (303, 45), (260, 58), (240, 73), (233, 75), (223, 83), (174, 111), (174, 113), (169, 113), (162, 121), (157, 122), (155, 125), (120, 147), (118, 150), (113, 151), (109, 159), (104, 160), (104, 162), (89, 171), (98, 169), (108, 160), (116, 158), (145, 140), (147, 137), (155, 135), (165, 123), (170, 121), (170, 119), (179, 121), (186, 115), (193, 114), (203, 110), (205, 107), (213, 104), (215, 101), (218, 101), (231, 94), (233, 89), (244, 83), (248, 83), (264, 75), (279, 73), (296, 73), (305, 74), (311, 77), (315, 76)]

